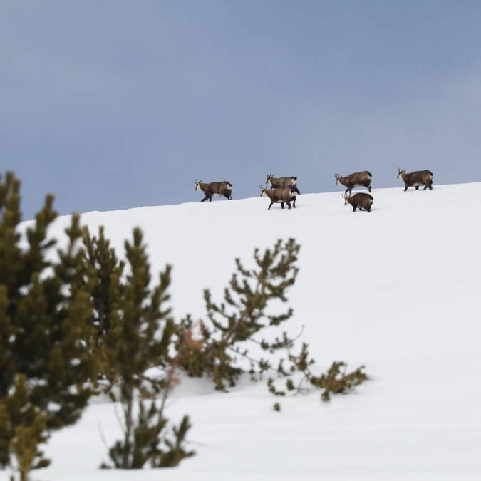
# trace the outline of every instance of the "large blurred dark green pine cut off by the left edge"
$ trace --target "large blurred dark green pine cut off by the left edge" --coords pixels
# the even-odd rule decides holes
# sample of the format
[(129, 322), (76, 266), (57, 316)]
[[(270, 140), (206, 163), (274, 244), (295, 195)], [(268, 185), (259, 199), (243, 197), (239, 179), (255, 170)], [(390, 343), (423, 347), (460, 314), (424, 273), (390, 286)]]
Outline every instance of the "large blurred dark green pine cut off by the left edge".
[(81, 415), (96, 362), (80, 341), (91, 336), (93, 305), (78, 216), (55, 260), (55, 241), (47, 237), (57, 215), (53, 197), (21, 236), (19, 189), (10, 172), (0, 177), (0, 465), (14, 454), (26, 469), (44, 464), (36, 444), (46, 432)]

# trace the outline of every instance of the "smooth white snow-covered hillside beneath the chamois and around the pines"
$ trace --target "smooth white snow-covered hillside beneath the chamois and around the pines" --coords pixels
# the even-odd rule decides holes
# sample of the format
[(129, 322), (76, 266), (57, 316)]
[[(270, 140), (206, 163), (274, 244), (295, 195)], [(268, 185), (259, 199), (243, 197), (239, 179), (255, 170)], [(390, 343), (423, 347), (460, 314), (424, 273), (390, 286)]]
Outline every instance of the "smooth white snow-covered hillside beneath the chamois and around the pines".
[(161, 471), (97, 470), (107, 460), (102, 435), (113, 444), (118, 424), (113, 405), (93, 400), (52, 436), (53, 464), (33, 479), (480, 480), (481, 183), (372, 195), (371, 213), (353, 213), (336, 192), (301, 195), (296, 210), (268, 211), (257, 197), (84, 214), (119, 253), (133, 227), (143, 229), (154, 271), (174, 266), (176, 316), (202, 316), (206, 287), (220, 298), (234, 257), (294, 237), (291, 331), (304, 325), (320, 368), (365, 364), (372, 381), (327, 404), (319, 392), (281, 398), (275, 413), (265, 383), (226, 394), (186, 380), (168, 415), (191, 416), (197, 456)]

